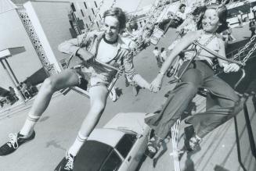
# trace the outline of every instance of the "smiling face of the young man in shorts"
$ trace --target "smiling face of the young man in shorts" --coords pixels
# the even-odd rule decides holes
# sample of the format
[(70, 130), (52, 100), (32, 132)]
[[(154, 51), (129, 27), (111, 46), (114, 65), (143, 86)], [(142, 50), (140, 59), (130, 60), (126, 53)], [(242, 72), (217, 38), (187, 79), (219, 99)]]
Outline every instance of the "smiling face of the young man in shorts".
[(120, 23), (114, 16), (106, 16), (104, 20), (104, 31), (105, 37), (108, 41), (115, 41), (117, 40), (117, 36), (120, 31)]

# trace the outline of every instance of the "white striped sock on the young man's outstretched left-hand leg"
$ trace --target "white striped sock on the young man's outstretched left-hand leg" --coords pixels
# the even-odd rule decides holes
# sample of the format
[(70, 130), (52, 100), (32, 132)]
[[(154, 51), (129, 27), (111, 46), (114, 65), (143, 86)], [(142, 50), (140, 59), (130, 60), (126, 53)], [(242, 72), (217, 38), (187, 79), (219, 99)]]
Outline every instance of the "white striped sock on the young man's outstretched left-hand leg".
[(29, 113), (23, 127), (20, 130), (20, 134), (24, 135), (24, 137), (31, 136), (34, 130), (34, 125), (38, 122), (39, 118), (40, 116), (34, 116)]

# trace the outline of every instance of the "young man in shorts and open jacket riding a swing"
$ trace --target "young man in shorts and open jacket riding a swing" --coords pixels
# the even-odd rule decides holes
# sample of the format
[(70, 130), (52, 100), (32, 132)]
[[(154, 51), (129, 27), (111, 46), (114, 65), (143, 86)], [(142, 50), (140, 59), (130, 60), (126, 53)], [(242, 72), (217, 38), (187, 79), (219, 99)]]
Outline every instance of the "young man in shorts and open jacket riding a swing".
[[(99, 62), (107, 63), (110, 66), (123, 65), (125, 74), (130, 80), (134, 80), (140, 87), (150, 90), (150, 84), (138, 73), (135, 73), (128, 46), (124, 44), (119, 35), (126, 24), (124, 12), (120, 8), (113, 8), (106, 10), (103, 17), (103, 31), (95, 30), (89, 32), (85, 37), (85, 41), (82, 41), (84, 34), (76, 39), (65, 41), (59, 45), (59, 51), (81, 56), (85, 61), (97, 59)], [(98, 66), (98, 68), (93, 66), (81, 71), (65, 69), (63, 72), (47, 78), (42, 84), (30, 112), (28, 112), (27, 120), (22, 129), (18, 134), (11, 134), (11, 140), (2, 145), (0, 156), (9, 155), (19, 148), (21, 144), (34, 138), (34, 125), (48, 107), (55, 91), (66, 87), (78, 86), (81, 80), (85, 79), (88, 81), (91, 108), (81, 125), (74, 144), (67, 150), (66, 156), (56, 167), (58, 171), (73, 170), (74, 157), (95, 128), (105, 109), (108, 94), (107, 87), (111, 81), (110, 77), (112, 76), (104, 71), (103, 66)]]

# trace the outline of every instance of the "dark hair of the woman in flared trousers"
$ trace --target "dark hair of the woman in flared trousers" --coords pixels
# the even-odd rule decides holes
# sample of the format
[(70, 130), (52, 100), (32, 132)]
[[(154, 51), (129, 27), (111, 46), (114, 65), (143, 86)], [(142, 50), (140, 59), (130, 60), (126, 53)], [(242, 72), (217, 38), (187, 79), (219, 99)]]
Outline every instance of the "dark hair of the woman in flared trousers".
[(226, 21), (227, 16), (228, 16), (228, 10), (225, 7), (225, 5), (218, 5), (218, 4), (211, 4), (211, 5), (207, 5), (204, 7), (200, 7), (200, 12), (202, 12), (200, 14), (200, 20), (197, 23), (197, 29), (200, 30), (202, 29), (202, 20), (204, 18), (204, 13), (207, 9), (216, 9), (217, 13), (218, 13), (218, 20), (219, 23), (221, 23), (221, 25), (218, 27), (218, 30), (216, 30), (216, 32), (219, 34), (221, 33), (223, 30), (228, 29), (228, 23)]

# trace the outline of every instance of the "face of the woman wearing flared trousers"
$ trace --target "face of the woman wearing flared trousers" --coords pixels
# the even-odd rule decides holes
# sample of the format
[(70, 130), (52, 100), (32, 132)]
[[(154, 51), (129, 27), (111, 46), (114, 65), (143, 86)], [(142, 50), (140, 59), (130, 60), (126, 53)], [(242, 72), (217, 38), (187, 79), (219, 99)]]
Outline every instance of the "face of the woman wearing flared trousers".
[(214, 33), (219, 26), (218, 13), (216, 9), (207, 9), (202, 20), (203, 30)]

